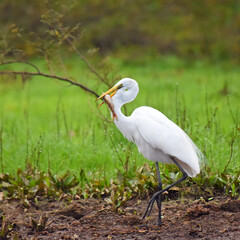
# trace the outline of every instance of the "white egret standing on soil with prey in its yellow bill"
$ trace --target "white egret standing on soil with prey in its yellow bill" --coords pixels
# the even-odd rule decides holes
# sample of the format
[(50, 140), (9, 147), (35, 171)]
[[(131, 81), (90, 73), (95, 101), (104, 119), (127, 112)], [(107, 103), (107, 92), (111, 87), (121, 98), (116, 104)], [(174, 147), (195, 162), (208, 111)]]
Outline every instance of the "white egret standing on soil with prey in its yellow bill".
[[(108, 104), (113, 121), (123, 136), (135, 143), (139, 153), (146, 159), (155, 162), (158, 191), (149, 200), (142, 218), (150, 216), (156, 201), (158, 207), (157, 225), (161, 225), (162, 193), (184, 181), (187, 177), (195, 177), (199, 174), (204, 156), (190, 137), (160, 111), (152, 107), (141, 106), (136, 108), (130, 116), (125, 116), (121, 107), (132, 102), (138, 93), (137, 81), (123, 78), (99, 96), (96, 101), (102, 99), (103, 103)], [(175, 164), (182, 172), (182, 177), (163, 189), (159, 162)]]

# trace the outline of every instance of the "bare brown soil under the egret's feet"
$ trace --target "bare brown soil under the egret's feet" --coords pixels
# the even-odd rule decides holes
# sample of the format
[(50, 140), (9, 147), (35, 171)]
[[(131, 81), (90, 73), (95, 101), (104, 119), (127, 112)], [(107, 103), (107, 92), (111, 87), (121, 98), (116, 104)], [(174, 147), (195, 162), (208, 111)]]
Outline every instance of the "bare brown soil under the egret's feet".
[(162, 226), (154, 225), (156, 208), (147, 223), (141, 219), (146, 205), (134, 199), (115, 212), (104, 200), (45, 199), (28, 208), (1, 202), (0, 212), (12, 225), (9, 239), (240, 239), (240, 200), (164, 202)]

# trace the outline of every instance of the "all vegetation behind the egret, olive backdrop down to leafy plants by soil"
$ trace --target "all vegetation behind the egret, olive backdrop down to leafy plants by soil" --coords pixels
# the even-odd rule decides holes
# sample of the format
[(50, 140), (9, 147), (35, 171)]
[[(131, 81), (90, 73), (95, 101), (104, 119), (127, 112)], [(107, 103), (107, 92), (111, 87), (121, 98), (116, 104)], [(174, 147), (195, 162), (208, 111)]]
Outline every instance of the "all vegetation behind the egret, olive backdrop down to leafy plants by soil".
[[(141, 1), (138, 8), (147, 6), (147, 11), (140, 18), (133, 3), (127, 9), (122, 3), (121, 11), (114, 2), (107, 3), (82, 1), (79, 6), (72, 1), (66, 7), (61, 1), (55, 5), (49, 1), (60, 14), (37, 2), (22, 8), (21, 2), (19, 13), (29, 9), (26, 19), (35, 17), (35, 21), (21, 19), (16, 24), (18, 14), (12, 13), (12, 3), (1, 2), (0, 9), (5, 11), (0, 18), (13, 14), (1, 26), (0, 41), (0, 189), (4, 196), (20, 199), (25, 206), (41, 196), (105, 197), (119, 209), (129, 198), (152, 192), (157, 187), (154, 164), (123, 138), (106, 107), (99, 110), (95, 98), (72, 86), (84, 86), (96, 96), (127, 76), (139, 82), (140, 93), (125, 112), (130, 114), (141, 105), (159, 109), (206, 156), (201, 174), (181, 186), (183, 194), (209, 197), (221, 191), (237, 197), (240, 71), (226, 59), (239, 60), (238, 4), (223, 1), (216, 8), (215, 1)], [(102, 11), (97, 10), (100, 6)], [(112, 14), (102, 18), (106, 12)], [(220, 13), (227, 23), (214, 21)], [(126, 24), (128, 19), (131, 25)], [(165, 24), (152, 24), (156, 19)], [(86, 32), (78, 20), (88, 26)], [(207, 24), (213, 32), (205, 28)], [(226, 29), (229, 44), (219, 37), (219, 31)], [(109, 50), (112, 54), (106, 57)], [(190, 60), (195, 57), (199, 60)], [(51, 77), (40, 77), (46, 74)], [(179, 177), (174, 166), (162, 165), (161, 169), (164, 184)], [(5, 234), (8, 228), (4, 219), (2, 223)], [(39, 222), (33, 219), (32, 225), (38, 231), (46, 227), (46, 221), (44, 217)]]

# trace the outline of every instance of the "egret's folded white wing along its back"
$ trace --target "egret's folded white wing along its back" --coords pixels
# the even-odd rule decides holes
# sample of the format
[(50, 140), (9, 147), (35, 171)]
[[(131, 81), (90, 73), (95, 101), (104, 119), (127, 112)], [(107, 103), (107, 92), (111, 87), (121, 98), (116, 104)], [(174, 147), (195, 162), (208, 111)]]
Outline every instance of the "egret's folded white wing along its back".
[(176, 157), (199, 173), (197, 147), (180, 127), (150, 107), (136, 109), (132, 117), (139, 134), (152, 148)]

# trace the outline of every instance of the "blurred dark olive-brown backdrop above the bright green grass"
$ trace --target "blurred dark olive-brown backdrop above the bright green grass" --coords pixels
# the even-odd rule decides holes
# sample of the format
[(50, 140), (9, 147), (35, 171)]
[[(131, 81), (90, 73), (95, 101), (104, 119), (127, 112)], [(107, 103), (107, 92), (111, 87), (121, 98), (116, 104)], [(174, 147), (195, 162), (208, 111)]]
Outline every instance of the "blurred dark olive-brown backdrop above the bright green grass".
[(22, 37), (11, 45), (35, 55), (37, 39), (46, 30), (41, 16), (49, 9), (63, 14), (66, 26), (80, 23), (77, 46), (82, 49), (240, 60), (238, 0), (1, 0), (0, 30), (19, 31)]

